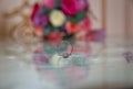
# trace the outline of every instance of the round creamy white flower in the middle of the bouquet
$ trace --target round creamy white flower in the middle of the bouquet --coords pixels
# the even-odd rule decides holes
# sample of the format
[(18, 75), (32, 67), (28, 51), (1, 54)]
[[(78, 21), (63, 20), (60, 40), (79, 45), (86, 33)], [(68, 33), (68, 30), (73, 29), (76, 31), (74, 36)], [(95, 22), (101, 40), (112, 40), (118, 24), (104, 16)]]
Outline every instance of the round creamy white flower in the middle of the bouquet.
[(50, 22), (53, 26), (58, 27), (64, 24), (65, 15), (60, 10), (54, 10), (50, 14)]

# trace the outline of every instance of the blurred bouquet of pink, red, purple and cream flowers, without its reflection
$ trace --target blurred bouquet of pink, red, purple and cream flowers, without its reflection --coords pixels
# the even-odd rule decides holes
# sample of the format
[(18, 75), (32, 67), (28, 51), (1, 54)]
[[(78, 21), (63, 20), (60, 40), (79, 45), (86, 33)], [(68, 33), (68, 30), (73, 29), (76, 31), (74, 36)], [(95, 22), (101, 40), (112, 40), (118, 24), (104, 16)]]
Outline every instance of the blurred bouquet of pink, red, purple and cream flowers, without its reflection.
[(89, 9), (88, 0), (41, 0), (31, 14), (34, 34), (49, 41), (85, 36), (91, 29)]

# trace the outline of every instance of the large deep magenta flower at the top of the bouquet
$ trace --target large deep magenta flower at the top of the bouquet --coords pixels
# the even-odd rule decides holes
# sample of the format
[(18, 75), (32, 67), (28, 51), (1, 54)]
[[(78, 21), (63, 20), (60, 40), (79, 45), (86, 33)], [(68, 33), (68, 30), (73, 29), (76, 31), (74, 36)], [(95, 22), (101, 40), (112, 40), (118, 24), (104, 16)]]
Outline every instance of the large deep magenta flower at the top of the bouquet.
[(62, 0), (61, 9), (66, 15), (75, 15), (78, 13), (78, 2), (76, 0)]

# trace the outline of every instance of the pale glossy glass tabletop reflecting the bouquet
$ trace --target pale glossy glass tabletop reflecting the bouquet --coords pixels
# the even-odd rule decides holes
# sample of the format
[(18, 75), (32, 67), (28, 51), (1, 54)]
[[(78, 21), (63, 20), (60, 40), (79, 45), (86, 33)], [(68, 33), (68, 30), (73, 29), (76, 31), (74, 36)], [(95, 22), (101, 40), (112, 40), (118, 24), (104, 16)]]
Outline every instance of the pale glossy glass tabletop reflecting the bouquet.
[[(0, 46), (0, 86), (3, 89), (117, 89), (133, 85), (132, 42), (120, 43), (113, 40), (108, 41), (104, 46), (89, 43), (88, 54), (85, 51), (75, 51), (68, 59), (58, 64), (55, 59), (61, 56), (53, 53), (50, 55), (50, 65), (43, 59), (41, 63), (34, 62), (35, 52), (42, 49), (42, 44), (25, 46), (3, 41)], [(83, 48), (83, 43), (80, 46)], [(39, 54), (41, 55), (38, 56), (45, 56), (44, 52)], [(71, 60), (79, 57), (78, 62)], [(83, 59), (85, 65), (79, 64)]]

